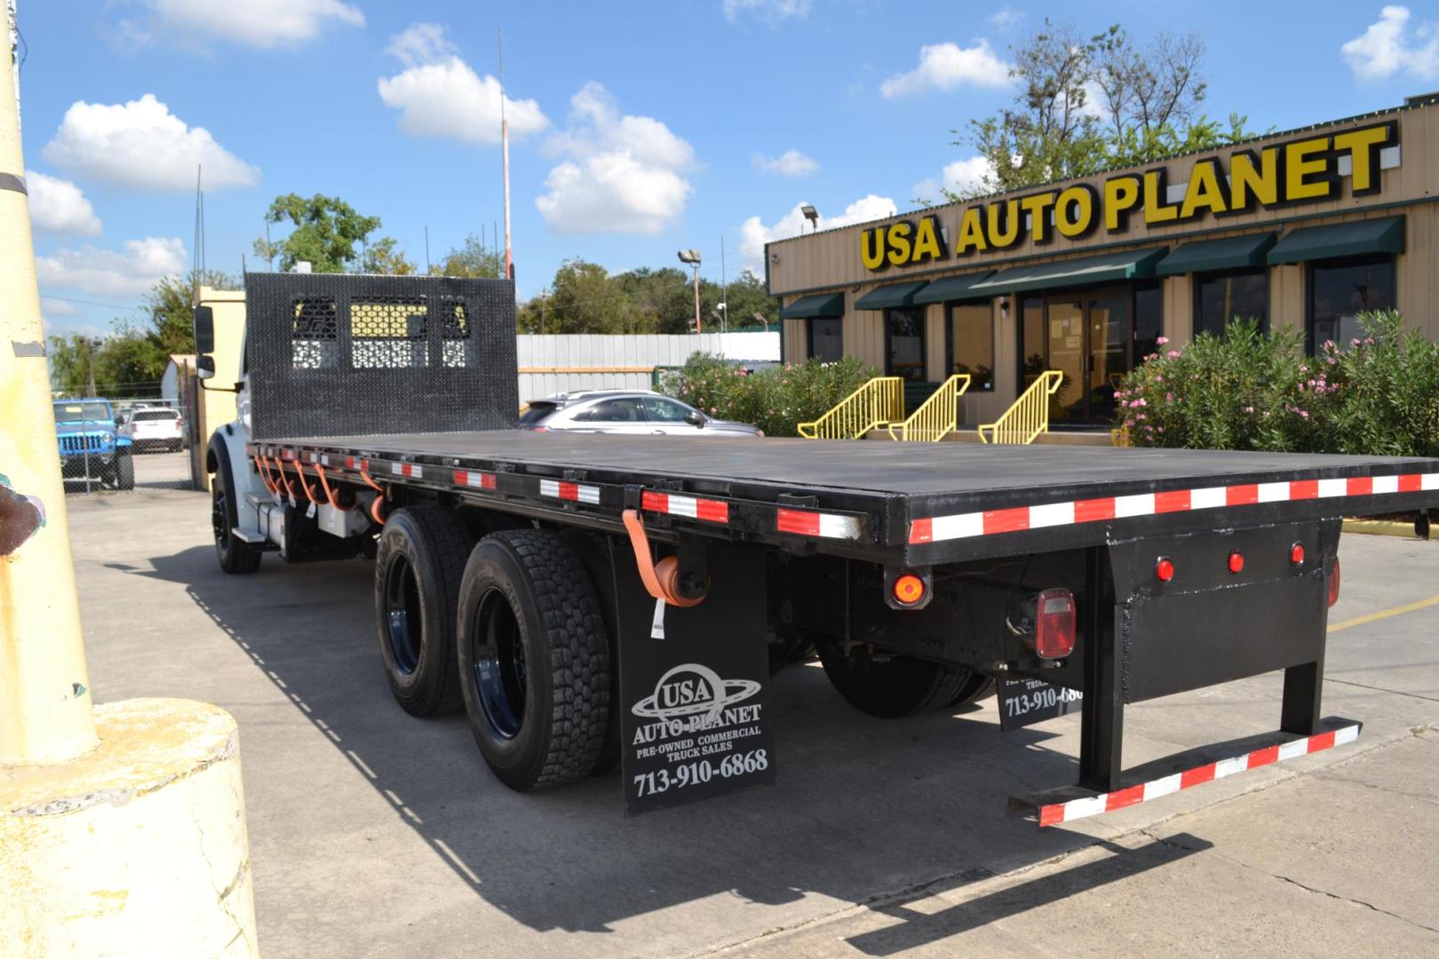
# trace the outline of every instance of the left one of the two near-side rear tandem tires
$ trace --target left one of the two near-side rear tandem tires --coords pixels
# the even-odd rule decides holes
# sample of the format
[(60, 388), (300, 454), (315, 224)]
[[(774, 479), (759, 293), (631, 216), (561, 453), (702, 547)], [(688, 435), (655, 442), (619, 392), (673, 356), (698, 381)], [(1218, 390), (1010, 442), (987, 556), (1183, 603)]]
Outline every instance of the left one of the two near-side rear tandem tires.
[(390, 513), (374, 556), (374, 615), (390, 693), (412, 716), (459, 709), (455, 604), (469, 536), (425, 503)]

